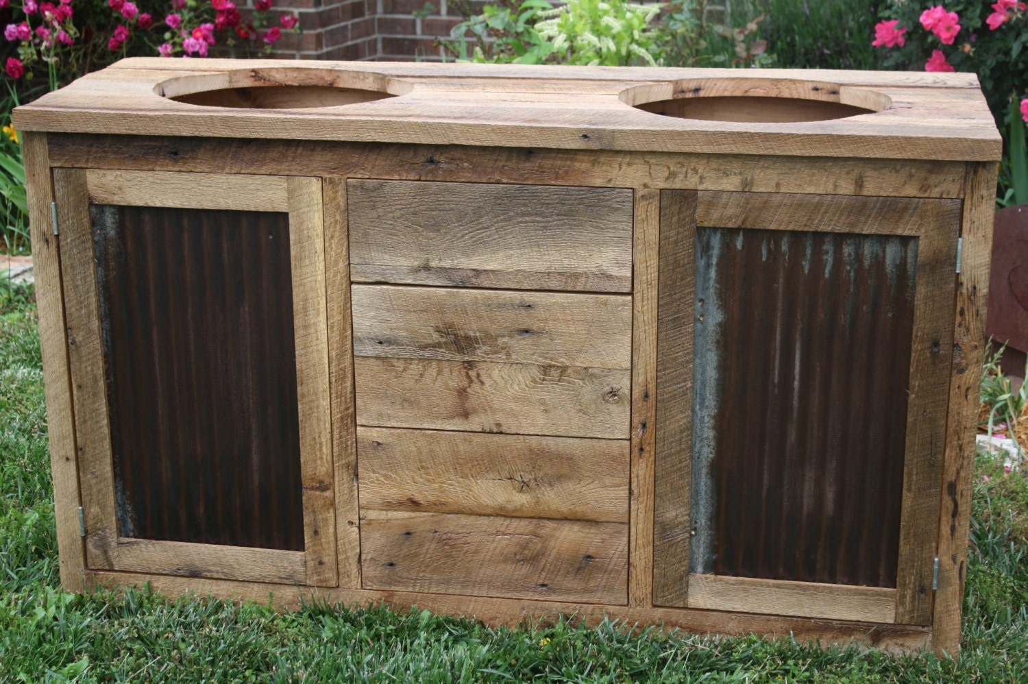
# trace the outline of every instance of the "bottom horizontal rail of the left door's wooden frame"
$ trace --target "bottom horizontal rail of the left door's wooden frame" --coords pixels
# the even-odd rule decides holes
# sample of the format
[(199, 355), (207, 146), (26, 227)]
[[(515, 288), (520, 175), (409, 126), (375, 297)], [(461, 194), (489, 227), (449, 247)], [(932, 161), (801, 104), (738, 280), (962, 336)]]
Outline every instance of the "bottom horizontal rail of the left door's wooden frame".
[[(303, 551), (214, 546), (150, 539), (117, 540), (118, 569), (182, 577), (245, 579), (281, 584), (309, 582)], [(317, 576), (317, 572), (315, 575)]]

